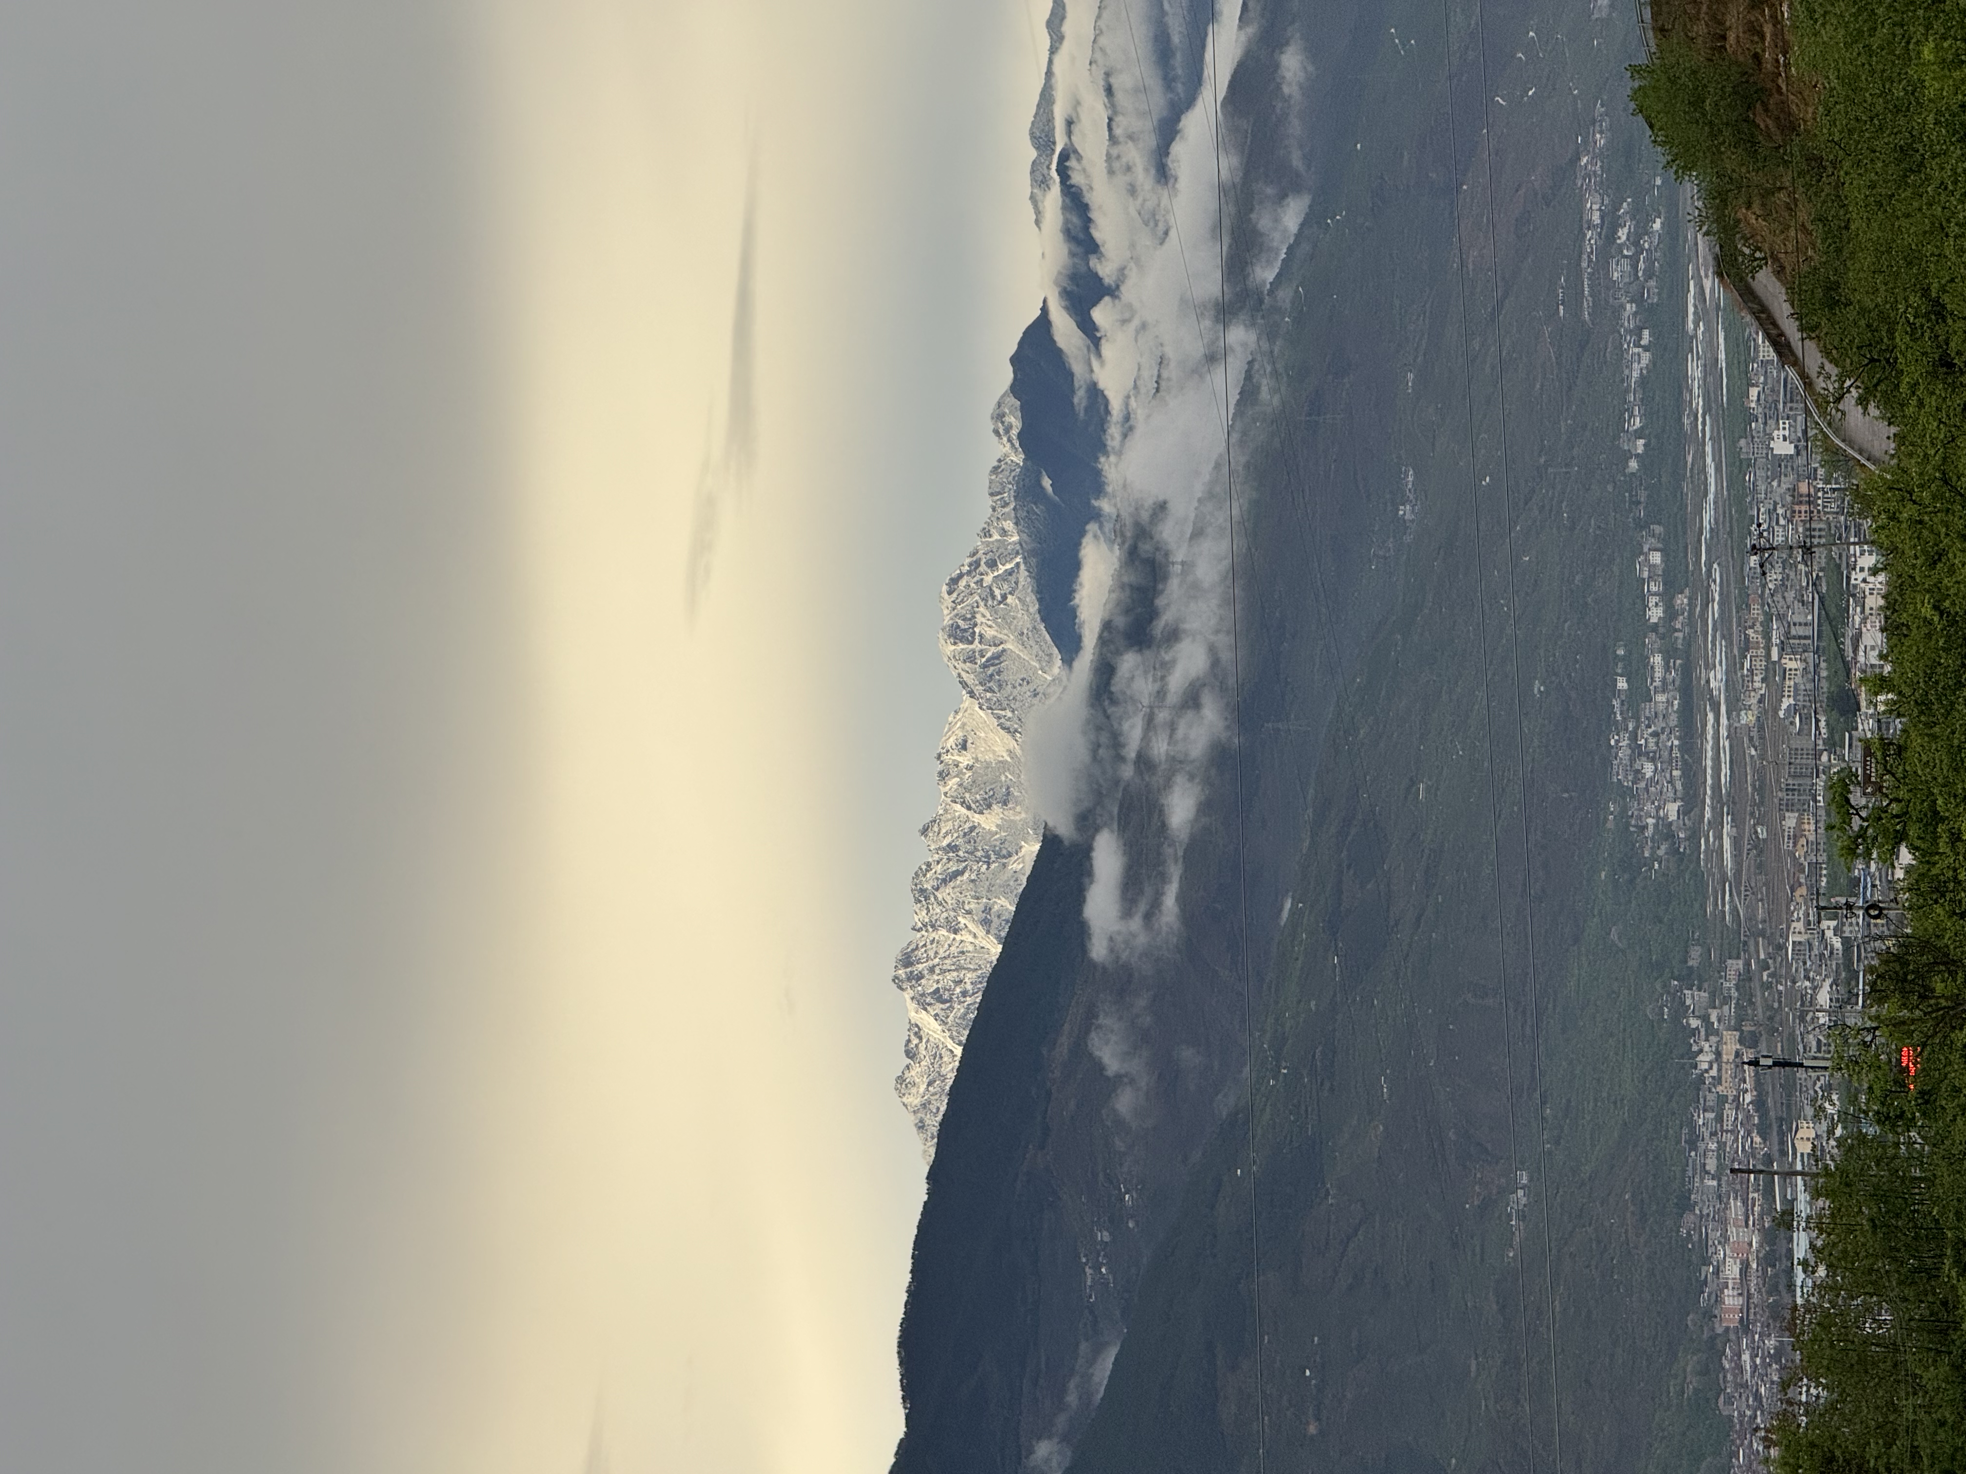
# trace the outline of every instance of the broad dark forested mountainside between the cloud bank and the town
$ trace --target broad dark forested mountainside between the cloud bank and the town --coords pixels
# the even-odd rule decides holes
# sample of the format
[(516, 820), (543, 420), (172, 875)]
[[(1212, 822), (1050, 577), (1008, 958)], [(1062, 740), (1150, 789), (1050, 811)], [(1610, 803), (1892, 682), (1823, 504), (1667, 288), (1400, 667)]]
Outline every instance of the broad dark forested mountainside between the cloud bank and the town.
[(930, 1173), (896, 1470), (1724, 1464), (1659, 1010), (1697, 861), (1610, 776), (1634, 556), (1685, 517), (1685, 204), (1600, 10), (1244, 20), (1317, 86), (1286, 130), (1252, 61), (1223, 114), (1231, 216), (1309, 193), (1237, 407), (1243, 823), (1225, 753), (1178, 937), (1125, 963), (1046, 841)]

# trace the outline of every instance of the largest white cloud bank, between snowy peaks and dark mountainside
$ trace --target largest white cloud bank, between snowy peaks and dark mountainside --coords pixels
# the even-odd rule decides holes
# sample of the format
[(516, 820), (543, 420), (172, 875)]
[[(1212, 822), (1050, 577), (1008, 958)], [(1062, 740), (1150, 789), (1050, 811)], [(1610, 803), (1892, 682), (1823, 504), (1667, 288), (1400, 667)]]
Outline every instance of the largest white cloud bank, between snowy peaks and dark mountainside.
[[(1095, 833), (1085, 918), (1099, 959), (1166, 939), (1182, 855), (1231, 737), (1223, 407), (1241, 393), (1254, 350), (1235, 305), (1223, 324), (1219, 208), (1237, 189), (1231, 177), (1217, 193), (1213, 73), (1162, 159), (1152, 100), (1172, 86), (1144, 20), (1125, 22), (1113, 8), (1071, 8), (1054, 57), (1062, 183), (1085, 202), (1089, 267), (1107, 289), (1091, 309), (1095, 338), (1068, 330), (1064, 346), (1103, 397), (1111, 432), (1103, 521), (1079, 580), (1085, 647), (1056, 704), (1032, 719), (1026, 749), (1046, 820), (1068, 835)], [(1213, 45), (1223, 77), (1239, 59), (1239, 22), (1241, 6), (1227, 0)], [(1286, 67), (1286, 85), (1301, 90), (1307, 69)], [(1235, 157), (1221, 163), (1235, 173)], [(1307, 204), (1298, 193), (1254, 200), (1254, 293), (1268, 289)], [(1073, 257), (1058, 181), (1040, 195), (1040, 220), (1052, 318), (1070, 324), (1070, 283), (1087, 263)], [(1123, 833), (1113, 802), (1146, 770), (1160, 822)], [(1150, 837), (1128, 837), (1136, 831)], [(1128, 855), (1128, 843), (1148, 849)], [(1123, 894), (1128, 873), (1140, 894)]]

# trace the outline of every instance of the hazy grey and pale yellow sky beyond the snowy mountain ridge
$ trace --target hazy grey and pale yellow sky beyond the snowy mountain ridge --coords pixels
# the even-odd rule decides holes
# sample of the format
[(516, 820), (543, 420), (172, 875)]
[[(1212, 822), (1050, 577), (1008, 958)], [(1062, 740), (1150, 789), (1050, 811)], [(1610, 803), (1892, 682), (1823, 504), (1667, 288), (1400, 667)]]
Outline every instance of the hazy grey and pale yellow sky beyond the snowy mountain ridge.
[(885, 1464), (1038, 39), (0, 6), (0, 1468)]

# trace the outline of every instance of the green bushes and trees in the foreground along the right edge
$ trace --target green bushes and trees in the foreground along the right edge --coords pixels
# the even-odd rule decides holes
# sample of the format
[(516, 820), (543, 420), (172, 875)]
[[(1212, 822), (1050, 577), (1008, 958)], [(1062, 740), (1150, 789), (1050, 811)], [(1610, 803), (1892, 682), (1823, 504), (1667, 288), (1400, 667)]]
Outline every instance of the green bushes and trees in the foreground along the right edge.
[(1848, 859), (1915, 863), (1842, 1044), (1775, 1466), (1966, 1468), (1966, 6), (1655, 0), (1653, 37), (1632, 102), (1722, 271), (1771, 269), (1838, 391), (1897, 430), (1858, 493), (1889, 574), (1870, 696), (1897, 733), (1830, 806)]

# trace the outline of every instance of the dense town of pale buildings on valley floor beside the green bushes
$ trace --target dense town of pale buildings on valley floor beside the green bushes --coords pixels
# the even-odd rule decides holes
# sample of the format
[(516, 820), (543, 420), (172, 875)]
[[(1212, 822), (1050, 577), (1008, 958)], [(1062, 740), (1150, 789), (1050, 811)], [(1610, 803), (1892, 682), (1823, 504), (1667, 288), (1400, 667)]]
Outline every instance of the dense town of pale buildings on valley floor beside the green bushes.
[[(1703, 1252), (1705, 1303), (1722, 1338), (1734, 1466), (1754, 1470), (1791, 1362), (1789, 1307), (1809, 1283), (1809, 1173), (1834, 1138), (1830, 1030), (1862, 1000), (1866, 947), (1897, 877), (1832, 873), (1824, 806), (1830, 772), (1860, 768), (1862, 739), (1887, 721), (1862, 690), (1885, 660), (1883, 578), (1844, 478), (1811, 444), (1801, 391), (1760, 340), (1744, 399), (1748, 558), (1701, 672), (1732, 682), (1728, 700), (1705, 708), (1706, 723), (1726, 731), (1703, 751), (1740, 772), (1730, 790), (1708, 786), (1724, 794), (1724, 812), (1708, 818), (1728, 877), (1710, 935), (1736, 941), (1718, 959), (1693, 947), (1667, 1006), (1679, 1004), (1699, 1071), (1685, 1228)], [(1642, 576), (1649, 556), (1648, 546)], [(1651, 582), (1646, 599), (1651, 629), (1663, 619)]]

